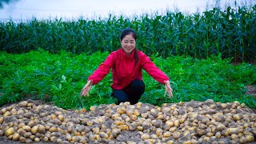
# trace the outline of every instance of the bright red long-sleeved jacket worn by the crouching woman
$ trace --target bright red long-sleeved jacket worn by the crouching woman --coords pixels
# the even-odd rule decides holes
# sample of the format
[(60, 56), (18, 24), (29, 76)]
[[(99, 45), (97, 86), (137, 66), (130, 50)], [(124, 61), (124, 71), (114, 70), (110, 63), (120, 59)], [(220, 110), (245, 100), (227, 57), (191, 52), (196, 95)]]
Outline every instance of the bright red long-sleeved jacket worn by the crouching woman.
[(138, 51), (138, 63), (135, 65), (134, 50), (127, 56), (126, 53), (121, 49), (112, 52), (105, 60), (102, 62), (98, 69), (90, 75), (88, 80), (92, 80), (93, 84), (100, 82), (106, 74), (110, 72), (112, 68), (113, 84), (111, 87), (114, 90), (122, 90), (134, 79), (142, 80), (142, 69), (146, 70), (148, 74), (156, 81), (164, 84), (164, 81), (169, 80), (169, 78), (159, 70), (158, 67), (150, 61), (150, 58), (146, 56), (142, 51)]

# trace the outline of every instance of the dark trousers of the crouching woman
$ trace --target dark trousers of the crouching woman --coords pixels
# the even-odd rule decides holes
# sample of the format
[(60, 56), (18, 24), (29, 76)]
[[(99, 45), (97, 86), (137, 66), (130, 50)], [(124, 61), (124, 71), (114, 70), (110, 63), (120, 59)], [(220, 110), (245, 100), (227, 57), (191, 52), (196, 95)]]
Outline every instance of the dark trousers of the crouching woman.
[(129, 86), (123, 90), (113, 90), (112, 96), (118, 99), (120, 102), (130, 102), (131, 105), (134, 105), (141, 98), (142, 94), (145, 91), (145, 84), (143, 81), (135, 79), (130, 83)]

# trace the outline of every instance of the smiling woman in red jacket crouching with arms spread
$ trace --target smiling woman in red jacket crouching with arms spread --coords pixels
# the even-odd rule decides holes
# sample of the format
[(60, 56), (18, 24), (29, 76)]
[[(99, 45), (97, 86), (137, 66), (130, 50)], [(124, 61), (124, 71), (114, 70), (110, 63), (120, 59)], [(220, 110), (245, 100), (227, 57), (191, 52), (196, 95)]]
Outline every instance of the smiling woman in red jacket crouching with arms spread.
[(141, 98), (145, 90), (142, 69), (156, 81), (164, 84), (170, 98), (173, 97), (170, 79), (150, 61), (146, 54), (136, 49), (136, 40), (137, 35), (134, 30), (127, 28), (122, 31), (120, 36), (122, 48), (112, 52), (90, 75), (86, 86), (82, 89), (83, 96), (88, 96), (91, 86), (100, 82), (112, 68), (112, 96), (118, 99), (118, 104), (120, 102), (135, 104)]

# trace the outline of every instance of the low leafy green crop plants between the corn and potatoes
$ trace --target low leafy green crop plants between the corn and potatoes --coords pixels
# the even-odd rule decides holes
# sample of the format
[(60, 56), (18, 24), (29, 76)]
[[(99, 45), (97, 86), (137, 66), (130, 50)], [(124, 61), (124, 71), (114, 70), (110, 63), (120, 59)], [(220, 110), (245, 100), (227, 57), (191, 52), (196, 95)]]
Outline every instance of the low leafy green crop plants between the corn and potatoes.
[[(92, 86), (89, 97), (80, 96), (87, 78), (108, 54), (50, 54), (42, 49), (26, 54), (1, 52), (0, 106), (26, 97), (54, 102), (64, 109), (89, 109), (93, 105), (114, 103), (116, 99), (110, 96), (111, 73)], [(164, 86), (143, 71), (146, 92), (140, 101), (160, 106), (162, 103), (211, 98), (214, 102), (245, 102), (246, 106), (256, 108), (256, 98), (246, 96), (244, 88), (255, 84), (256, 66), (247, 63), (234, 66), (230, 59), (221, 57), (212, 55), (200, 60), (174, 56), (164, 59), (154, 54), (150, 58), (170, 77), (174, 98), (164, 96)]]

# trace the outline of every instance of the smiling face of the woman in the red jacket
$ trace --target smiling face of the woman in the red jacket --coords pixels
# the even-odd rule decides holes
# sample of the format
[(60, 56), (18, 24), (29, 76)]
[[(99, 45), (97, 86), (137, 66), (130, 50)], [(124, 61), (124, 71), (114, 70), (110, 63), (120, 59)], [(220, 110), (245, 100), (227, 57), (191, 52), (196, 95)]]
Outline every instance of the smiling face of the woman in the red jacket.
[(132, 34), (127, 34), (124, 38), (122, 38), (121, 41), (122, 50), (125, 51), (127, 55), (130, 55), (130, 53), (135, 49), (136, 41)]

